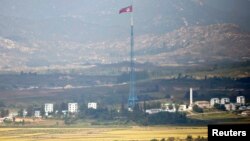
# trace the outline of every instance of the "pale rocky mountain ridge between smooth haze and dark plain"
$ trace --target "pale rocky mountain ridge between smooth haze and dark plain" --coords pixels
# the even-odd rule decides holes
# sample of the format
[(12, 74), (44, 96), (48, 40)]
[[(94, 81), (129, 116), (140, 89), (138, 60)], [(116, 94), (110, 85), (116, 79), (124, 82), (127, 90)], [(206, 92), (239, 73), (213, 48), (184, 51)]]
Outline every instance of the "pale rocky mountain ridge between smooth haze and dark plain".
[[(249, 45), (250, 33), (241, 31), (235, 24), (188, 26), (163, 35), (147, 34), (135, 37), (135, 55), (139, 63), (148, 62), (159, 66), (245, 62), (250, 59)], [(49, 68), (119, 63), (129, 61), (130, 48), (129, 39), (87, 44), (66, 41), (25, 44), (0, 38), (0, 49), (3, 51), (1, 60), (5, 60), (1, 63), (4, 70), (6, 66), (32, 68), (30, 64), (36, 64), (33, 67)], [(6, 56), (13, 58), (8, 59)]]

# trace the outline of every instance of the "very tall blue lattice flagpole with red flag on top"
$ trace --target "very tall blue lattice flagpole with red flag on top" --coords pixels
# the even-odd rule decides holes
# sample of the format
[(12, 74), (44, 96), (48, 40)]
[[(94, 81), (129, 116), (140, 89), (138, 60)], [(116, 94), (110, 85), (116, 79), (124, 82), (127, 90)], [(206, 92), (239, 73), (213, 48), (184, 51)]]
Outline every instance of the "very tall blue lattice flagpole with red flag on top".
[(133, 19), (133, 3), (119, 11), (121, 13), (130, 13), (130, 83), (129, 83), (129, 97), (128, 97), (128, 109), (133, 110), (138, 100), (135, 93), (135, 62), (134, 62), (134, 19)]

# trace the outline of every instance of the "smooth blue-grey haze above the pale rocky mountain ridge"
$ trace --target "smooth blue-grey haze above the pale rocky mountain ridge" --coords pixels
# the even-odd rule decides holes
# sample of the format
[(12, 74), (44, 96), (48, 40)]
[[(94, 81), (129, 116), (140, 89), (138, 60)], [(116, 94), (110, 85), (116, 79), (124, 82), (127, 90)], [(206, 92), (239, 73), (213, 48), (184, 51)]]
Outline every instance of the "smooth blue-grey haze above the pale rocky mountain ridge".
[[(1, 0), (0, 36), (42, 40), (128, 37), (131, 0)], [(182, 26), (236, 23), (249, 29), (249, 0), (134, 0), (135, 34), (164, 34)]]

